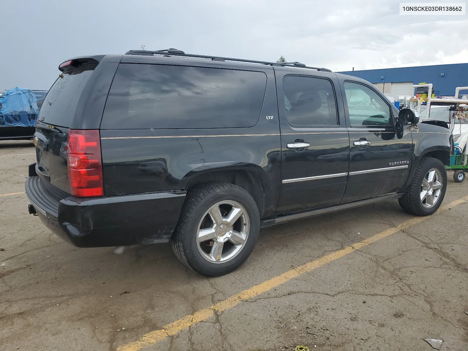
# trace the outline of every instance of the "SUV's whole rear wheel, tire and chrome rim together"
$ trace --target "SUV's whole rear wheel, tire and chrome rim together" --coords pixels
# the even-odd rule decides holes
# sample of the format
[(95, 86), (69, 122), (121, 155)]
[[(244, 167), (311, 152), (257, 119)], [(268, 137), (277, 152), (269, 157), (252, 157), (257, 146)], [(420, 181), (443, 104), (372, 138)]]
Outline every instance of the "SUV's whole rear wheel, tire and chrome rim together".
[(258, 208), (246, 190), (210, 183), (190, 193), (171, 242), (182, 263), (214, 277), (247, 260), (259, 231)]

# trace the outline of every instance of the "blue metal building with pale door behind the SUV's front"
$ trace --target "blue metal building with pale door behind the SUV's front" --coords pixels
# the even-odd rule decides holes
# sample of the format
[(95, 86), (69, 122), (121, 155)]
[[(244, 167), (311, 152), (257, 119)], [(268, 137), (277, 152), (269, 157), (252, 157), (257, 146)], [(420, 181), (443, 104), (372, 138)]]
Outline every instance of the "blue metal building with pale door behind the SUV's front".
[[(414, 95), (412, 84), (432, 83), (437, 96), (453, 96), (456, 87), (468, 86), (468, 63), (452, 65), (416, 66), (339, 72), (363, 78), (373, 83), (383, 93), (394, 96)], [(468, 94), (468, 90), (460, 92)]]

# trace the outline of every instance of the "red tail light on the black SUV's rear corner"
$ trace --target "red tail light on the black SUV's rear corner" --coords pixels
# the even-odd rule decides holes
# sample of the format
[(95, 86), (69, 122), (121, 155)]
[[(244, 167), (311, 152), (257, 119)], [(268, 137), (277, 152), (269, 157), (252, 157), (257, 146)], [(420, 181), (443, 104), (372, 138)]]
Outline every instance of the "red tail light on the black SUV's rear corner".
[(66, 162), (72, 195), (104, 195), (101, 138), (98, 130), (70, 129)]

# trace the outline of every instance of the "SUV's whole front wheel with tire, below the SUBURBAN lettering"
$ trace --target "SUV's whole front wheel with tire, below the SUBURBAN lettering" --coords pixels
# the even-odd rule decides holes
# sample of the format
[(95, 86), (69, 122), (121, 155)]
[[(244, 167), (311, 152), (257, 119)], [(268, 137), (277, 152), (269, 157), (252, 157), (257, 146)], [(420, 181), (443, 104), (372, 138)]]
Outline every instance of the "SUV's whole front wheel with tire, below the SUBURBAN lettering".
[(437, 211), (445, 196), (447, 172), (435, 158), (424, 157), (417, 166), (409, 189), (398, 199), (408, 213), (428, 216)]

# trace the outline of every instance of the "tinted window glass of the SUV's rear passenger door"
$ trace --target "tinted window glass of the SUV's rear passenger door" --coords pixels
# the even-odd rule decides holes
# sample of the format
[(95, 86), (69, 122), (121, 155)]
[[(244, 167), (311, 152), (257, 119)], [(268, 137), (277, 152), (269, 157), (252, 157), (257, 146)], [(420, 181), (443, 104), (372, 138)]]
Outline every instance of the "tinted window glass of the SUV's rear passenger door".
[(329, 80), (287, 76), (283, 90), (286, 119), (292, 126), (338, 125), (335, 95)]

